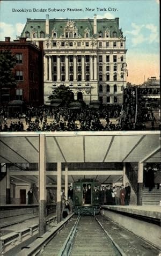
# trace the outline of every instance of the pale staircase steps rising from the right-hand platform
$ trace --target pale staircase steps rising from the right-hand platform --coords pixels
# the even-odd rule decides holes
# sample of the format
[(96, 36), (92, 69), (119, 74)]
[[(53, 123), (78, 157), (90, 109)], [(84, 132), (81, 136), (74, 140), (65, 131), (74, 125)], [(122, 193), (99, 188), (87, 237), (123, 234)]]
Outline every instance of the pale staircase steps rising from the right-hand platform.
[(161, 187), (159, 189), (153, 188), (152, 191), (150, 192), (148, 188), (143, 189), (142, 205), (153, 204), (155, 206), (159, 206), (160, 201), (161, 201)]

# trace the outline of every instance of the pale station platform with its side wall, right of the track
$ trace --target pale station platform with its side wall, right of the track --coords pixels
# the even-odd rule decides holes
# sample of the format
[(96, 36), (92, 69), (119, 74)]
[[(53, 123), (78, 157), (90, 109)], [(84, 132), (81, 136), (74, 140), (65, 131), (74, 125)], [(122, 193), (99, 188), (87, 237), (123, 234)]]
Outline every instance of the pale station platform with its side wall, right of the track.
[(101, 214), (161, 250), (161, 206), (102, 206)]

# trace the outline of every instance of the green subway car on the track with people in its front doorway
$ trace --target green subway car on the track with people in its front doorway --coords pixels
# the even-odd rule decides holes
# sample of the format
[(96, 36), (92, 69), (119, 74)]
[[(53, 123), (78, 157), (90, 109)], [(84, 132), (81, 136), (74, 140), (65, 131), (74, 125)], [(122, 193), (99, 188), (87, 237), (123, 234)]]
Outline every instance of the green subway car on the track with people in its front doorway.
[(74, 211), (78, 215), (93, 215), (100, 212), (100, 184), (94, 179), (80, 179), (73, 183)]

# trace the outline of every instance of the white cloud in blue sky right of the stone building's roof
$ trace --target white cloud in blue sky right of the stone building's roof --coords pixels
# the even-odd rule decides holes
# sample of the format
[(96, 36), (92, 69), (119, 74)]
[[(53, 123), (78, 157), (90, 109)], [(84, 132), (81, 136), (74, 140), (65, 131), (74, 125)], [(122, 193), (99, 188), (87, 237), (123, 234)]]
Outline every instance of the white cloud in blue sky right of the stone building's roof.
[(125, 34), (129, 34), (128, 38), (131, 40), (132, 46), (135, 47), (143, 42), (159, 42), (157, 26), (153, 24), (137, 25), (136, 23), (131, 23), (131, 27), (132, 29), (130, 31), (125, 31)]

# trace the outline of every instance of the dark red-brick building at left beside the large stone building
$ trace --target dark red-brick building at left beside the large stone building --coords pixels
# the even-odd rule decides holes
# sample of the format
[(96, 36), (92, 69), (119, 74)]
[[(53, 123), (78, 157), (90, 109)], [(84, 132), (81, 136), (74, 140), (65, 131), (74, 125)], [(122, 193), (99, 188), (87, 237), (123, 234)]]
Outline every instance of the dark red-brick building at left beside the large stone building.
[(11, 100), (22, 100), (29, 105), (40, 105), (43, 103), (43, 71), (42, 71), (42, 49), (26, 38), (10, 41), (6, 37), (0, 42), (1, 50), (10, 50), (16, 55), (17, 63), (13, 69), (17, 87), (10, 91), (5, 86), (2, 89), (2, 104)]

